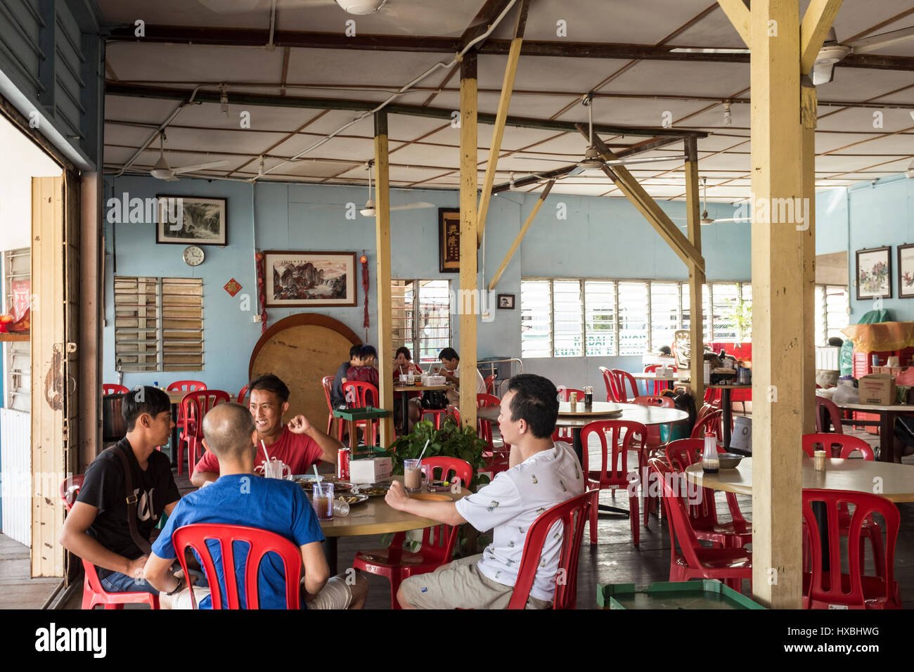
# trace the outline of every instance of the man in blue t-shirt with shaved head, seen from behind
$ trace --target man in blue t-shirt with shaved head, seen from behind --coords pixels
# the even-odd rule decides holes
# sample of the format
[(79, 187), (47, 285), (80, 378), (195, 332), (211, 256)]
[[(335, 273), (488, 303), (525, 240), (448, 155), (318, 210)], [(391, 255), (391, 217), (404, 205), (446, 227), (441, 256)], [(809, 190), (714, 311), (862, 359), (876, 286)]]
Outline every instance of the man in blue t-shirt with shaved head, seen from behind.
[[(303, 607), (361, 609), (367, 580), (358, 572), (328, 579), (330, 571), (321, 548), (324, 533), (302, 488), (292, 481), (254, 475), (257, 430), (250, 411), (235, 403), (218, 404), (203, 419), (203, 435), (204, 445), (218, 457), (218, 480), (178, 502), (145, 566), (145, 578), (160, 591), (163, 608), (190, 608), (191, 604), (184, 581), (178, 581), (169, 571), (177, 556), (172, 543), (175, 529), (195, 523), (222, 523), (266, 529), (291, 539), (301, 548)], [(220, 592), (225, 595), (218, 545), (210, 544), (210, 552), (218, 571)], [(240, 586), (247, 553), (236, 545), (235, 554)], [(212, 608), (208, 589), (196, 586), (194, 591), (201, 609)], [(260, 564), (258, 595), (260, 609), (286, 608), (282, 561), (274, 553)], [(244, 592), (239, 601), (244, 607)]]

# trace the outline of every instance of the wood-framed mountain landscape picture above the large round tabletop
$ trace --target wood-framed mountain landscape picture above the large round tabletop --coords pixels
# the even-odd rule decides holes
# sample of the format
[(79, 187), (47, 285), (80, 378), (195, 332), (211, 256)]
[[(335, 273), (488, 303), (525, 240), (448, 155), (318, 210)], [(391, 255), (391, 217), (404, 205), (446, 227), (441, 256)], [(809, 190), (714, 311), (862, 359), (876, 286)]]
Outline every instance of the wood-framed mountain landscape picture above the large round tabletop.
[(356, 252), (264, 251), (268, 308), (356, 305)]

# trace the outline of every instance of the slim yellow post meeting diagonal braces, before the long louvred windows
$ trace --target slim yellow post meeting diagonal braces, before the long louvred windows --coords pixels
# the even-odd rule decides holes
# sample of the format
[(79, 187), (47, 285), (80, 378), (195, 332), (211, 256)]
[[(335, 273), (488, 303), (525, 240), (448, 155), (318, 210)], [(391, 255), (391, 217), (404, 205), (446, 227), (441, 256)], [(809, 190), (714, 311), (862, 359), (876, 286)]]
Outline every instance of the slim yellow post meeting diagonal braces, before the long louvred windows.
[[(698, 195), (698, 141), (685, 140), (685, 217), (688, 221), (688, 241), (701, 253), (701, 203)], [(695, 403), (701, 407), (705, 397), (705, 339), (704, 314), (701, 309), (701, 287), (705, 283), (705, 271), (695, 261), (688, 262), (689, 334), (692, 344), (692, 359), (689, 368), (692, 394)]]

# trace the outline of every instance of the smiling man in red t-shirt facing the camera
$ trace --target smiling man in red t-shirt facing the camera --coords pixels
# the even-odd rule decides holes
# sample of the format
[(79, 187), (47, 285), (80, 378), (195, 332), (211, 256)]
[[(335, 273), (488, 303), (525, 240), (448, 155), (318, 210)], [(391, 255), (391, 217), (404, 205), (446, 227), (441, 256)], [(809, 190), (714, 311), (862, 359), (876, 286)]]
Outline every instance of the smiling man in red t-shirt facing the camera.
[[(281, 379), (271, 374), (260, 376), (250, 382), (248, 389), (250, 414), (258, 435), (255, 469), (267, 459), (264, 445), (271, 458), (289, 465), (292, 474), (306, 474), (318, 460), (336, 464), (336, 452), (343, 447), (342, 443), (314, 427), (303, 415), (296, 415), (288, 424), (282, 424), (282, 415), (289, 410), (289, 388)], [(197, 462), (190, 482), (203, 487), (218, 477), (218, 459), (207, 452)]]

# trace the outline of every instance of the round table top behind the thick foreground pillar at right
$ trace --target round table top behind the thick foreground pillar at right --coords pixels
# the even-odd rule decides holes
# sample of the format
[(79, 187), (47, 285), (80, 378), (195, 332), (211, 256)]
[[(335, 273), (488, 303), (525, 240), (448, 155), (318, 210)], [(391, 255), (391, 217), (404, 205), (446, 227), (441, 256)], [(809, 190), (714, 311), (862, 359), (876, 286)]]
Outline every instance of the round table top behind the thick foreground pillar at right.
[[(685, 469), (692, 483), (712, 490), (752, 494), (752, 458), (746, 457), (736, 469), (721, 469), (717, 474), (705, 474), (701, 464)], [(914, 466), (866, 460), (825, 460), (825, 471), (813, 468), (813, 458), (802, 458), (802, 486), (824, 490), (854, 490), (873, 492), (874, 479), (881, 478), (882, 492), (877, 493), (891, 502), (914, 502)]]

